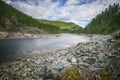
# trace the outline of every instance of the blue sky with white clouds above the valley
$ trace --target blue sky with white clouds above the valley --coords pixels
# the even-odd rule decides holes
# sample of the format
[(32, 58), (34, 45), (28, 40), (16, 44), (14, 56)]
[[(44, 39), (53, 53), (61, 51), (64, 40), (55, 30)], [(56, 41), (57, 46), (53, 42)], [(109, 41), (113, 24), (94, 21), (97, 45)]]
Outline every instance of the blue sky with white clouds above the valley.
[(74, 22), (85, 27), (110, 4), (120, 0), (4, 0), (37, 19)]

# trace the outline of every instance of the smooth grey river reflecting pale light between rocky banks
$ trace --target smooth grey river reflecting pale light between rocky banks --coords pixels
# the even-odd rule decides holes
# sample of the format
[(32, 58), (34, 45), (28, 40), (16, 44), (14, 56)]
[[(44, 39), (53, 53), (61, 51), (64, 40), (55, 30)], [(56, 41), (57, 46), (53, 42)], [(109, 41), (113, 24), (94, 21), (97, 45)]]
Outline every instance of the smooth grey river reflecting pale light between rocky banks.
[(42, 38), (0, 39), (0, 63), (29, 54), (69, 47), (87, 42), (86, 35), (60, 34)]

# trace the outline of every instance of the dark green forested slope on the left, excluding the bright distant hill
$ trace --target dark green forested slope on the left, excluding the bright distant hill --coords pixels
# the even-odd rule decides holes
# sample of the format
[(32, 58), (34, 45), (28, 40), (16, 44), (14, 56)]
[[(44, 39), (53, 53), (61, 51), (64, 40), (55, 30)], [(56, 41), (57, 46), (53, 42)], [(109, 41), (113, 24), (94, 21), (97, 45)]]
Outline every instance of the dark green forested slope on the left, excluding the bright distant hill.
[(17, 31), (19, 28), (37, 27), (47, 33), (59, 33), (57, 26), (42, 24), (0, 0), (0, 31)]

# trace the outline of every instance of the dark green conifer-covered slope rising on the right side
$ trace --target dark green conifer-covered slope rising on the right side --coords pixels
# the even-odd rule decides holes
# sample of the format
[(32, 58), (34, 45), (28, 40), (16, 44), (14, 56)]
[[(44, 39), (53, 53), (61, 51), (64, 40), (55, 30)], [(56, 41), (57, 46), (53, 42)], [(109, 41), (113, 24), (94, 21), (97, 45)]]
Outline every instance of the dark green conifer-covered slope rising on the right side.
[(84, 29), (85, 33), (110, 34), (120, 29), (120, 5), (109, 5), (101, 14), (98, 14)]

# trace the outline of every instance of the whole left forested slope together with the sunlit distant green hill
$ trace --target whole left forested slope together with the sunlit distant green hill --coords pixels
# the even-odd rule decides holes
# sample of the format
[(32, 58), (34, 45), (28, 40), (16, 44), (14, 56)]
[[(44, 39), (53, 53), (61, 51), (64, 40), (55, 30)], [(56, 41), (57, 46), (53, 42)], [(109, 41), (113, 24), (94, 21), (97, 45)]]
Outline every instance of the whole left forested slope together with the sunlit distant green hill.
[(47, 33), (82, 32), (74, 23), (33, 19), (0, 0), (0, 31), (19, 31), (26, 27), (43, 29)]

